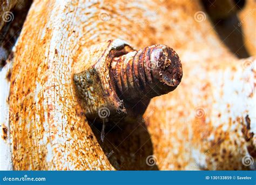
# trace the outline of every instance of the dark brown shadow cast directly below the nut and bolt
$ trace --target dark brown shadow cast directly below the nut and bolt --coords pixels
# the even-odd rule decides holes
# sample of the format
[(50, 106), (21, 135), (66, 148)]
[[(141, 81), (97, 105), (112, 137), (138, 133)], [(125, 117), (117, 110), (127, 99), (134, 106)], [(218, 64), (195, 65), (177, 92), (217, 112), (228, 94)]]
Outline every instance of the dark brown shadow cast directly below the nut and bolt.
[(153, 147), (144, 122), (120, 122), (122, 124), (105, 123), (113, 126), (105, 128), (104, 141), (101, 140), (102, 124), (90, 123), (111, 165), (117, 170), (158, 170), (151, 157)]

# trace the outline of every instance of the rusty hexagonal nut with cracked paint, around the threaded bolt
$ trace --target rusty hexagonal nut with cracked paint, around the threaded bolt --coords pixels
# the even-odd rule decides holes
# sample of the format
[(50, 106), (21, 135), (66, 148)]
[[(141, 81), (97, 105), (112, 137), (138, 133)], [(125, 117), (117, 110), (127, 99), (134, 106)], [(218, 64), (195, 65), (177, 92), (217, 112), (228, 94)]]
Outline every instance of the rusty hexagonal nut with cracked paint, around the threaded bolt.
[[(110, 77), (113, 57), (135, 51), (123, 40), (109, 40), (84, 49), (73, 71), (78, 101), (86, 118), (99, 122), (118, 122), (127, 115)], [(129, 112), (129, 111), (128, 111)]]

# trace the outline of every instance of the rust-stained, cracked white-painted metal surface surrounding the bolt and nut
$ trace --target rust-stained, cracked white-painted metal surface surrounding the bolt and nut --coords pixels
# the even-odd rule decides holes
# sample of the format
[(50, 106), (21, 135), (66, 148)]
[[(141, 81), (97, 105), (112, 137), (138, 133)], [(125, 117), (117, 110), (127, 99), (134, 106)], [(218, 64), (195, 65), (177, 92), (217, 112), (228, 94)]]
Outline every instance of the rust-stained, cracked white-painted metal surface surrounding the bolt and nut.
[[(84, 48), (116, 38), (172, 46), (184, 75), (138, 125), (102, 143), (76, 100), (72, 68)], [(255, 160), (254, 60), (225, 48), (198, 1), (34, 1), (11, 77), (14, 168), (152, 169), (153, 155), (153, 169), (250, 169), (242, 159)]]

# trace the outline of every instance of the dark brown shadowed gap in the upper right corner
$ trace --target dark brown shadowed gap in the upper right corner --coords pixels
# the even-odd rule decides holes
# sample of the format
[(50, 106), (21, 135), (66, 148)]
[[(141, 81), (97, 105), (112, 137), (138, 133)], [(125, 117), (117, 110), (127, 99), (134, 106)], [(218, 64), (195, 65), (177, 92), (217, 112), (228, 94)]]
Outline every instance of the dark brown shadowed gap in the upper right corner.
[(245, 1), (233, 1), (234, 6), (226, 8), (220, 0), (202, 0), (202, 3), (211, 18), (214, 30), (228, 49), (238, 58), (250, 57), (244, 45), (241, 22), (237, 17), (237, 13), (244, 8)]

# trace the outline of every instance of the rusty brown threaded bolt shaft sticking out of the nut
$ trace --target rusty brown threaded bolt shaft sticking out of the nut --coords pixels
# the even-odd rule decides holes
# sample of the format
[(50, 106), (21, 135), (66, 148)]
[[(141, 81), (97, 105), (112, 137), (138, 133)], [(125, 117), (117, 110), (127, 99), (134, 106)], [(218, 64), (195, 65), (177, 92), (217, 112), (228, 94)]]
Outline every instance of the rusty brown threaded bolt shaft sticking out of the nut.
[(173, 91), (182, 78), (177, 53), (166, 45), (153, 45), (114, 57), (110, 77), (121, 99), (137, 102)]

